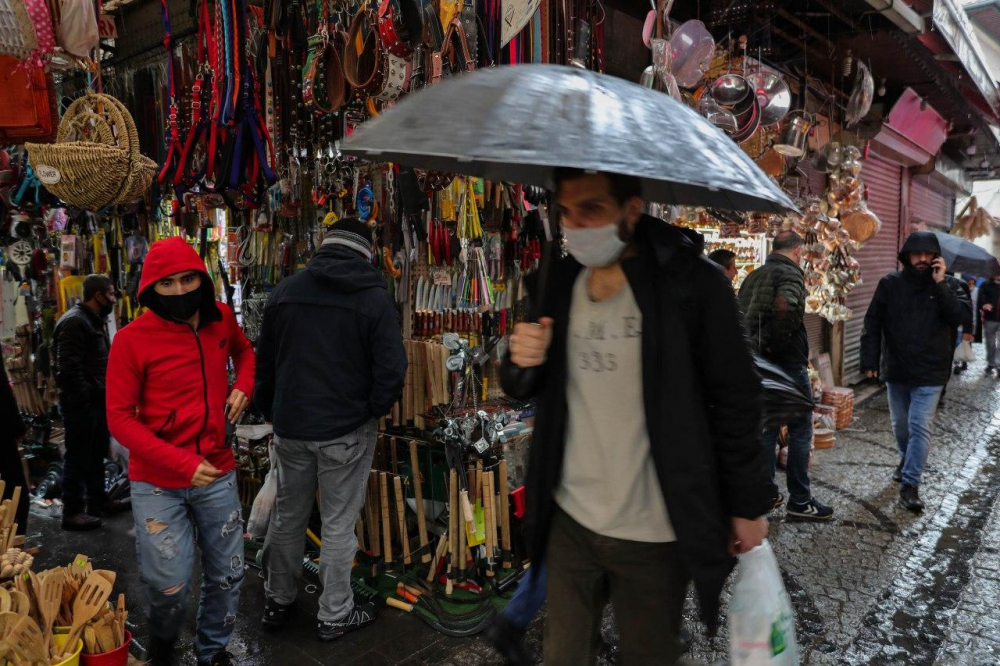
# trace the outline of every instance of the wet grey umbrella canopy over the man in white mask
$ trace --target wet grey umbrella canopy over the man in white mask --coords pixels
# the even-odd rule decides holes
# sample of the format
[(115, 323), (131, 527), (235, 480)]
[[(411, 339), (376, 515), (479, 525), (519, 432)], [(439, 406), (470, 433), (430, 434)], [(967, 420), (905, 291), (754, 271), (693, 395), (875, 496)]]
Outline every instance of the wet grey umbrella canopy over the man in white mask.
[(795, 205), (738, 145), (669, 95), (561, 65), (453, 77), (366, 123), (341, 150), (551, 187), (556, 167), (636, 176), (647, 201), (780, 213)]

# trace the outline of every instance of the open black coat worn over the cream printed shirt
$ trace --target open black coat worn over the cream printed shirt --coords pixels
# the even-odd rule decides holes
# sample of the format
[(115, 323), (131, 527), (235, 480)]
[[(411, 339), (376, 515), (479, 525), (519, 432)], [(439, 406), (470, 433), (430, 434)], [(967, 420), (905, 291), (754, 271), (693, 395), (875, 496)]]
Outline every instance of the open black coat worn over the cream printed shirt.
[[(760, 442), (760, 379), (732, 287), (701, 256), (702, 237), (645, 216), (635, 240), (638, 255), (622, 268), (643, 317), (641, 381), (653, 463), (703, 618), (714, 627), (735, 563), (727, 550), (730, 518), (762, 516), (777, 495)], [(509, 359), (501, 372), (504, 390), (537, 400), (527, 480), (536, 561), (545, 556), (566, 449), (567, 330), (581, 269), (571, 257), (551, 266), (543, 309), (555, 320), (553, 339), (535, 384), (517, 391)]]

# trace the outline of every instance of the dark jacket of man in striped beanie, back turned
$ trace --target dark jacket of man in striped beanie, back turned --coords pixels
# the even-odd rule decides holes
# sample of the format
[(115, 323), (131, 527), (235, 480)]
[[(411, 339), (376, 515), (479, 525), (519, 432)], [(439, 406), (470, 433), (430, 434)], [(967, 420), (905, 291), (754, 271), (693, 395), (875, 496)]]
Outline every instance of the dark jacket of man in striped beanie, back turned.
[(326, 245), (268, 300), (254, 402), (279, 437), (329, 441), (392, 409), (406, 363), (385, 278)]

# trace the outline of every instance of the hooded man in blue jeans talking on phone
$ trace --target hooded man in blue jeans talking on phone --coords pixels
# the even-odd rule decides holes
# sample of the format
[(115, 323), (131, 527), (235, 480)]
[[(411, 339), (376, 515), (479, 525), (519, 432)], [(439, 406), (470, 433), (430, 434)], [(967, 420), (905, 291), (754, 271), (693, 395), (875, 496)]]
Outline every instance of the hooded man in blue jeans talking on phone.
[(900, 458), (893, 478), (902, 482), (900, 503), (910, 511), (920, 511), (924, 503), (917, 489), (934, 413), (951, 375), (954, 331), (968, 321), (972, 306), (965, 293), (947, 279), (934, 234), (910, 234), (899, 261), (903, 270), (879, 281), (868, 306), (861, 334), (861, 368), (872, 379), (885, 369)]

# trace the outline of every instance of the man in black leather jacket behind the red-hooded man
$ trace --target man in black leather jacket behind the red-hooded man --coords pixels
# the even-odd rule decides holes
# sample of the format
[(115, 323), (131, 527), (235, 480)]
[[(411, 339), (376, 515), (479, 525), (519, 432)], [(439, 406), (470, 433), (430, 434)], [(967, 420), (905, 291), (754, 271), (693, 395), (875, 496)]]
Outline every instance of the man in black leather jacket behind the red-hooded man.
[[(101, 526), (106, 507), (104, 458), (111, 444), (104, 413), (110, 340), (107, 317), (115, 290), (106, 275), (88, 275), (83, 301), (66, 311), (53, 333), (56, 386), (66, 427), (63, 519), (66, 530)], [(119, 509), (118, 505), (115, 509)]]

